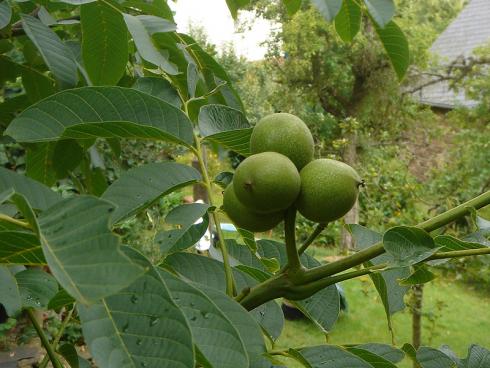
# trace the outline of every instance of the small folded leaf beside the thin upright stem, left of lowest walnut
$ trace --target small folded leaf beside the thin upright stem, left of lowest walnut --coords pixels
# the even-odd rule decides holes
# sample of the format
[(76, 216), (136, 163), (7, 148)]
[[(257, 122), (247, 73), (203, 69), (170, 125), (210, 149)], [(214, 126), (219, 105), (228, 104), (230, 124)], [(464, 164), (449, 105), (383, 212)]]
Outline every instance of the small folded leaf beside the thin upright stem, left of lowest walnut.
[[(174, 208), (165, 221), (180, 225), (179, 229), (162, 231), (157, 234), (155, 241), (163, 254), (185, 250), (195, 245), (206, 233), (209, 226), (207, 216), (208, 204), (192, 203)], [(199, 223), (199, 219), (202, 219)]]

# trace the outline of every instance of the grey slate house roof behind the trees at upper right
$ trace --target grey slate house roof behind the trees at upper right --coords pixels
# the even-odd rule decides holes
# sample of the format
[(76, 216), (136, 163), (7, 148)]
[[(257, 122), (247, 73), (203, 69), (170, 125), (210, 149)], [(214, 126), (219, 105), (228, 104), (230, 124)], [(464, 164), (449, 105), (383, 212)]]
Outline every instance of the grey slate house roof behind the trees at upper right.
[[(490, 0), (471, 0), (430, 50), (440, 57), (442, 63), (448, 64), (457, 58), (471, 56), (475, 48), (487, 42), (490, 42)], [(418, 95), (422, 103), (436, 107), (472, 107), (476, 104), (467, 99), (464, 92), (452, 91), (447, 82), (430, 85)]]

